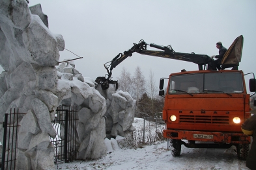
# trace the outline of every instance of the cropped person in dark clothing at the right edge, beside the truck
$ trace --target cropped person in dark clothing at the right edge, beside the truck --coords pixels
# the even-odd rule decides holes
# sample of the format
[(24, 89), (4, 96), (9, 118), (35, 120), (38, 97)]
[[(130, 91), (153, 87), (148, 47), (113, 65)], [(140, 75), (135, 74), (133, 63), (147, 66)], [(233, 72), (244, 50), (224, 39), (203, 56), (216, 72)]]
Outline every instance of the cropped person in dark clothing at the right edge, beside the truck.
[(252, 115), (242, 124), (242, 131), (246, 135), (253, 136), (253, 143), (251, 143), (251, 150), (246, 159), (246, 166), (249, 169), (256, 170), (256, 115)]

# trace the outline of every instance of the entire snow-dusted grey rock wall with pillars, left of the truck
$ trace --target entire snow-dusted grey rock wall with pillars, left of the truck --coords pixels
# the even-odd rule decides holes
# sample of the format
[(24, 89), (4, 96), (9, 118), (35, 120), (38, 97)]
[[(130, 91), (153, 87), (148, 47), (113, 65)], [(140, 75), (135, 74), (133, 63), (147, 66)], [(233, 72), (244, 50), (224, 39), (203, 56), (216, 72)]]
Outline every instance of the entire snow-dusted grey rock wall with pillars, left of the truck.
[(100, 90), (74, 62), (59, 64), (63, 49), (63, 36), (48, 29), (40, 5), (29, 8), (25, 0), (0, 1), (0, 65), (5, 70), (0, 75), (0, 123), (10, 108), (25, 113), (18, 119), (17, 169), (55, 169), (50, 137), (57, 132), (51, 121), (60, 104), (78, 109), (78, 159), (106, 154), (106, 131), (115, 137), (135, 130), (132, 97), (114, 88)]

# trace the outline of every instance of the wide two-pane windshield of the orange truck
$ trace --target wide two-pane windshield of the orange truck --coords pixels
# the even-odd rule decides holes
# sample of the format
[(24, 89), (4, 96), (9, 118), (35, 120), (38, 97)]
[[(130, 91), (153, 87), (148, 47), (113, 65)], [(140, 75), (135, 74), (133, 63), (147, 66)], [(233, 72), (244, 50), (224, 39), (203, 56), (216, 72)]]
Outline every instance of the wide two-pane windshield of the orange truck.
[(173, 75), (169, 94), (175, 93), (243, 93), (241, 73), (195, 73)]

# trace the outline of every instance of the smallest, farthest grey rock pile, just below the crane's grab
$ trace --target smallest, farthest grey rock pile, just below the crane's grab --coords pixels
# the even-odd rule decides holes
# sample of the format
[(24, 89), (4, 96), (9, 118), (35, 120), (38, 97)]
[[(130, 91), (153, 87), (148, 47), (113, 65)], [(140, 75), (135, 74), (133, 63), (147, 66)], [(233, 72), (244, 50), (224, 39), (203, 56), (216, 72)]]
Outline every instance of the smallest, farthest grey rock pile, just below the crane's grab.
[(115, 85), (109, 84), (107, 90), (100, 86), (96, 88), (106, 99), (106, 134), (107, 138), (115, 138), (118, 135), (126, 137), (135, 130), (132, 126), (136, 102), (128, 92), (115, 91)]

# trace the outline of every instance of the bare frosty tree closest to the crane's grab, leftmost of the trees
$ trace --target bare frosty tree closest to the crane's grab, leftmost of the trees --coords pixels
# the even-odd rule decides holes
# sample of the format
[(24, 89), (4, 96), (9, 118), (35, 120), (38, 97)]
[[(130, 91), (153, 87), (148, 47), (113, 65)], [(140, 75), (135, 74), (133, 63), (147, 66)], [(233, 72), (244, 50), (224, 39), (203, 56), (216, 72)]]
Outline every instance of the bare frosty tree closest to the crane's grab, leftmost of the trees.
[(117, 79), (119, 80), (119, 90), (132, 92), (131, 73), (125, 67), (122, 67), (120, 77), (117, 77)]

